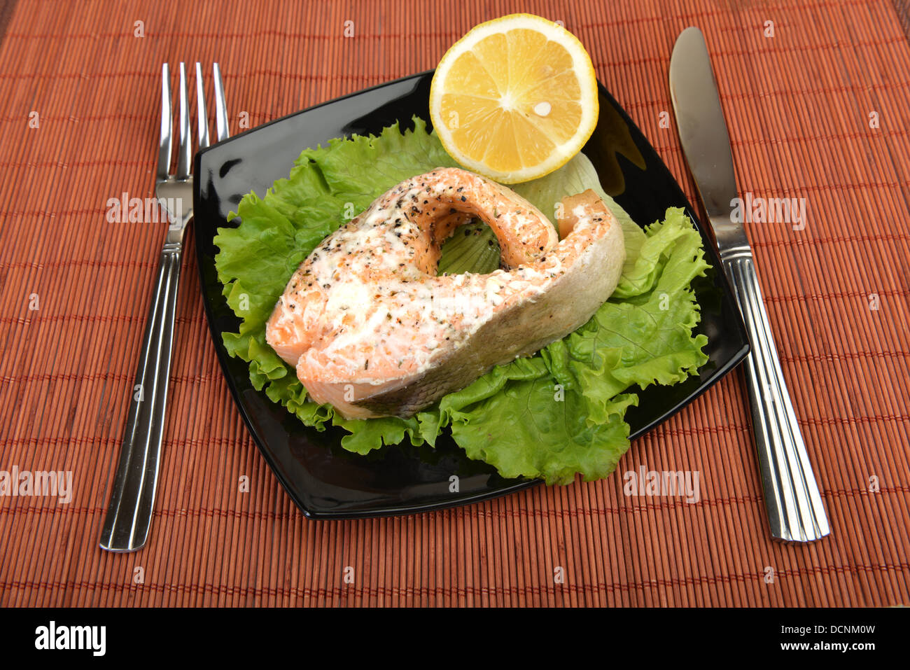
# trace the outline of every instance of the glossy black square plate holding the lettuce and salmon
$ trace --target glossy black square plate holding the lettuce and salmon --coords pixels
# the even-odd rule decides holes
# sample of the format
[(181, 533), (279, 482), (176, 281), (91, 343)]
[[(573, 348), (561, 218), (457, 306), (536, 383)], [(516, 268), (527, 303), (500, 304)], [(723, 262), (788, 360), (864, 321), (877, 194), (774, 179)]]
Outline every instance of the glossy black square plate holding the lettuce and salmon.
[[(425, 512), (487, 500), (533, 486), (539, 481), (503, 479), (491, 466), (471, 461), (450, 436), (437, 448), (408, 445), (384, 447), (367, 456), (344, 451), (339, 428), (319, 432), (304, 426), (280, 405), (256, 391), (244, 360), (227, 355), (222, 332), (236, 332), (239, 320), (227, 307), (217, 280), (212, 239), (249, 191), (262, 197), (272, 183), (288, 177), (294, 160), (307, 147), (325, 145), (332, 137), (378, 135), (399, 121), (410, 127), (417, 115), (430, 123), (428, 100), (432, 72), (409, 76), (231, 137), (196, 156), (193, 194), (194, 229), (203, 302), (218, 360), (238, 409), (259, 451), (278, 480), (309, 518), (341, 519)], [(619, 103), (600, 86), (601, 116), (584, 154), (597, 168), (604, 190), (639, 225), (663, 218), (668, 207), (695, 212), (660, 157)], [(748, 340), (711, 239), (699, 225), (713, 265), (707, 278), (696, 280), (702, 307), (698, 331), (708, 336), (708, 362), (697, 376), (675, 386), (651, 386), (640, 392), (638, 407), (626, 419), (632, 437), (641, 435), (679, 411), (731, 371), (748, 351)], [(450, 476), (459, 476), (459, 491), (450, 492)]]

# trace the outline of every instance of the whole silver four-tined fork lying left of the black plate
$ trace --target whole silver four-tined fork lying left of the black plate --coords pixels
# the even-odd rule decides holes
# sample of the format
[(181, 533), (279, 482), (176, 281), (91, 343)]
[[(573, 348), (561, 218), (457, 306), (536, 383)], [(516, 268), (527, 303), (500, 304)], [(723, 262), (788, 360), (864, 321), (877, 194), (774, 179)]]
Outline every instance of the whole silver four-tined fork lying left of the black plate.
[[(217, 139), (228, 137), (227, 106), (217, 63), (215, 79), (215, 123)], [(196, 64), (196, 100), (199, 148), (208, 146), (208, 117), (202, 66)], [(117, 466), (111, 501), (101, 532), (101, 548), (109, 552), (135, 552), (148, 537), (155, 504), (161, 439), (167, 410), (167, 380), (170, 375), (171, 343), (174, 339), (174, 313), (177, 308), (177, 283), (187, 222), (193, 216), (193, 177), (190, 174), (192, 138), (187, 104), (187, 71), (180, 64), (180, 101), (177, 147), (177, 173), (170, 174), (172, 126), (170, 71), (161, 68), (161, 142), (155, 195), (167, 211), (169, 225), (152, 304), (148, 310), (146, 334), (142, 340), (133, 399), (129, 405), (120, 462)]]

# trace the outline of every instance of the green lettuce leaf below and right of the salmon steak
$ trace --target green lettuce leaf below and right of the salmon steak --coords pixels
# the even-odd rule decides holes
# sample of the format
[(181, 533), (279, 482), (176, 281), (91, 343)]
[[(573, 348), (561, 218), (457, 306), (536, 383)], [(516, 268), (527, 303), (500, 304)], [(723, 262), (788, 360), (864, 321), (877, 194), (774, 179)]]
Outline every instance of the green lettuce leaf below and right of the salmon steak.
[(692, 335), (699, 311), (690, 284), (708, 268), (701, 236), (682, 209), (668, 209), (645, 236), (642, 248), (650, 245), (650, 262), (662, 271), (643, 273), (653, 279), (637, 284), (639, 301), (614, 296), (538, 356), (445, 396), (438, 410), (419, 415), (424, 439), (450, 425), (471, 458), (508, 477), (569, 483), (576, 473), (591, 480), (612, 472), (629, 448), (623, 418), (638, 404), (632, 388), (683, 381), (707, 360), (707, 338)]

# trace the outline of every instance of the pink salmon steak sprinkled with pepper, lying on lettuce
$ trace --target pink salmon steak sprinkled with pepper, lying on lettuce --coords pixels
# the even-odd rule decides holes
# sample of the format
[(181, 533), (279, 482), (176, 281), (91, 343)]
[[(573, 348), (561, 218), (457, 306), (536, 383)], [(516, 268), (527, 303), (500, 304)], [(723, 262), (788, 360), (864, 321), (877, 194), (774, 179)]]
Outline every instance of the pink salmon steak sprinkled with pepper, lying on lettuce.
[[(487, 223), (501, 268), (436, 275), (461, 224)], [(556, 228), (490, 179), (438, 167), (407, 179), (323, 239), (266, 327), (309, 397), (346, 419), (407, 418), (591, 319), (616, 288), (622, 228), (593, 191), (563, 198)]]

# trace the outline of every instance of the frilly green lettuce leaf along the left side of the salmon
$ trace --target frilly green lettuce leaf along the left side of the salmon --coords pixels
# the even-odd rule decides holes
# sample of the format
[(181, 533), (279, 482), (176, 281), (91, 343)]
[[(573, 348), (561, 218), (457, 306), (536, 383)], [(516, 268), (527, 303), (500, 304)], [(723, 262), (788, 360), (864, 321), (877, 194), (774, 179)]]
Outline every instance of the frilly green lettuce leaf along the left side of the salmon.
[(342, 446), (365, 453), (416, 434), (416, 421), (390, 418), (347, 421), (329, 405), (308, 401), (295, 371), (266, 343), (266, 322), (288, 279), (319, 242), (400, 181), (434, 167), (453, 167), (426, 124), (414, 117), (414, 129), (399, 124), (379, 136), (332, 139), (327, 147), (305, 149), (287, 179), (278, 179), (263, 198), (241, 199), (237, 228), (218, 228), (215, 259), (227, 303), (242, 322), (237, 333), (225, 333), (231, 356), (249, 362), (249, 378), (266, 388), (300, 421), (325, 430), (326, 421), (352, 433)]

